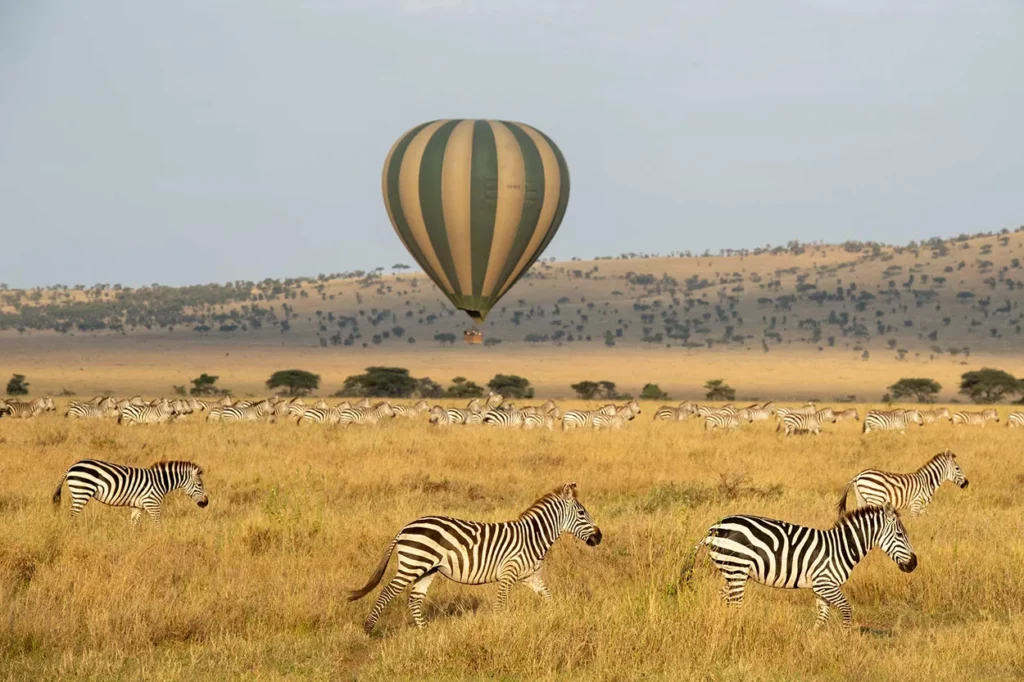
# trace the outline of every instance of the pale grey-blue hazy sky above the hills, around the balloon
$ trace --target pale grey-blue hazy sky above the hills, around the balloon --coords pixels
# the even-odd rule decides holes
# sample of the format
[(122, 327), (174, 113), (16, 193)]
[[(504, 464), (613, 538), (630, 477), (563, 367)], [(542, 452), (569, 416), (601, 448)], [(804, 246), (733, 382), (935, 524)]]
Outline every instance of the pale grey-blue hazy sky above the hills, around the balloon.
[(412, 263), (438, 118), (543, 130), (545, 257), (1024, 224), (1020, 0), (0, 0), (0, 282)]

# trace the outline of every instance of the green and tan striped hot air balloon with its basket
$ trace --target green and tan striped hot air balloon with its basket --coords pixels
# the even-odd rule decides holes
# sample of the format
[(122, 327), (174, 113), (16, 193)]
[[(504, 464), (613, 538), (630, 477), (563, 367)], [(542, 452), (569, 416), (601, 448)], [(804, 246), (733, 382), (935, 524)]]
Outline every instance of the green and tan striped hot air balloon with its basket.
[(569, 199), (562, 153), (540, 130), (509, 121), (418, 125), (392, 145), (382, 183), (398, 239), (477, 324), (544, 253)]

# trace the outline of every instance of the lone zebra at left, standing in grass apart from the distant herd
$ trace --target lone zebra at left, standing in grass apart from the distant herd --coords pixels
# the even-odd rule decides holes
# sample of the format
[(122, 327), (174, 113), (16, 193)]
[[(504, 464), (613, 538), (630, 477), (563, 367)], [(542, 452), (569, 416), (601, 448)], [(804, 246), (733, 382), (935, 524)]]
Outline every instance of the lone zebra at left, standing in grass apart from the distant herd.
[(131, 507), (132, 524), (138, 523), (142, 511), (158, 524), (164, 497), (179, 487), (200, 507), (210, 499), (203, 487), (203, 468), (193, 462), (157, 462), (147, 469), (123, 464), (79, 460), (65, 472), (53, 493), (53, 505), (60, 505), (65, 481), (71, 492), (71, 516), (77, 517), (92, 498), (112, 507)]

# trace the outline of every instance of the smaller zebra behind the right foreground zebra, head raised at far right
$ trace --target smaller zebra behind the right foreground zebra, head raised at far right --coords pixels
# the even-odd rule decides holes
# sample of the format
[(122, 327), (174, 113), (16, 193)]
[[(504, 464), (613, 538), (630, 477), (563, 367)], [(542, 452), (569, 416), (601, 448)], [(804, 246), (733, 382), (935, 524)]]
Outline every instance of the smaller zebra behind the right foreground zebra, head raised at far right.
[(909, 509), (911, 514), (918, 516), (932, 501), (935, 491), (947, 480), (956, 483), (961, 488), (967, 487), (969, 483), (964, 470), (956, 462), (956, 456), (948, 450), (939, 453), (909, 474), (867, 469), (851, 478), (843, 487), (837, 509), (841, 517), (846, 514), (847, 494), (853, 488), (858, 507), (888, 503), (897, 511)]

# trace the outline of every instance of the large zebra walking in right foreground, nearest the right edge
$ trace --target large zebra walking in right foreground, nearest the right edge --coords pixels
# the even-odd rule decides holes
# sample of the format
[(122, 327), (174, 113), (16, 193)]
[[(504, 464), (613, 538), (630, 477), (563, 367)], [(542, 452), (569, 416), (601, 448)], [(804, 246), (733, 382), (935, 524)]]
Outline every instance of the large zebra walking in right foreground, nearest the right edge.
[(722, 593), (730, 606), (741, 606), (746, 580), (770, 587), (811, 589), (817, 597), (816, 627), (828, 622), (828, 606), (849, 628), (853, 609), (840, 588), (853, 567), (874, 547), (889, 555), (900, 570), (918, 567), (906, 528), (892, 505), (863, 507), (821, 530), (760, 516), (727, 516), (708, 529), (683, 567), (689, 580), (697, 551), (707, 546), (725, 578)]

